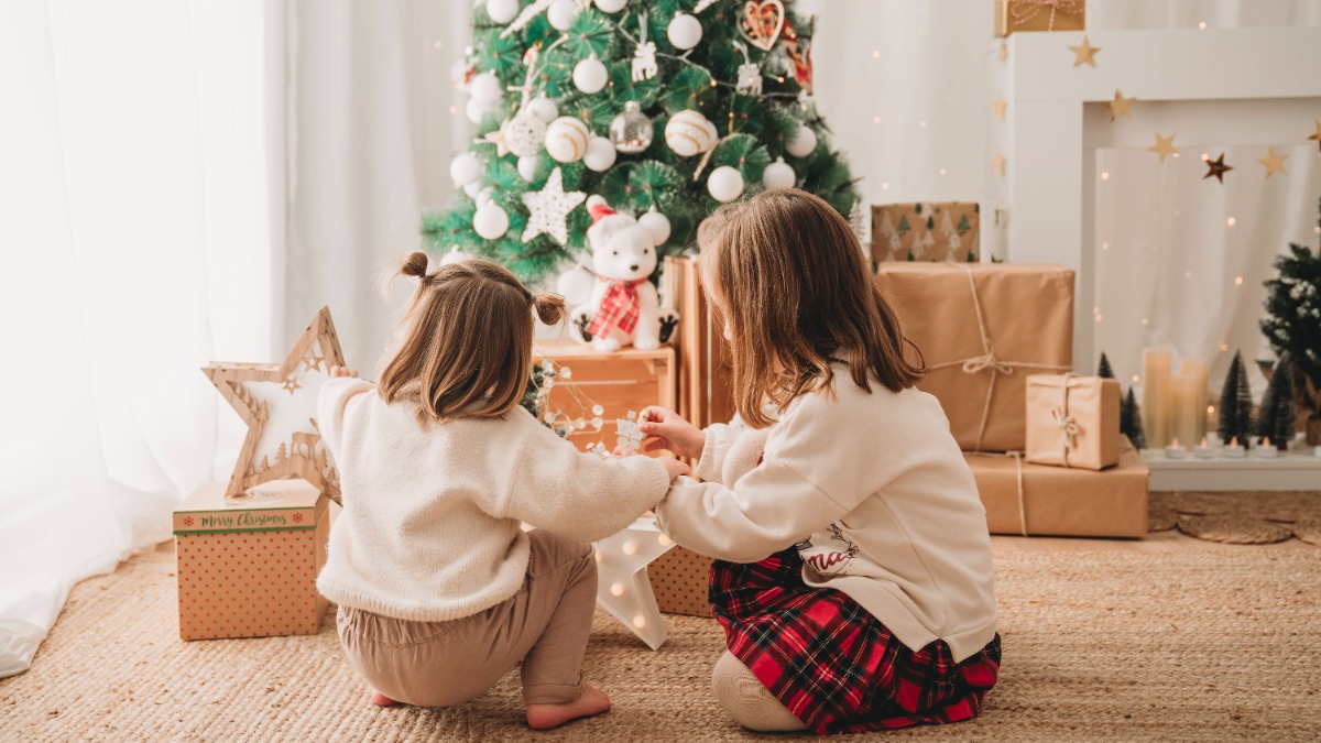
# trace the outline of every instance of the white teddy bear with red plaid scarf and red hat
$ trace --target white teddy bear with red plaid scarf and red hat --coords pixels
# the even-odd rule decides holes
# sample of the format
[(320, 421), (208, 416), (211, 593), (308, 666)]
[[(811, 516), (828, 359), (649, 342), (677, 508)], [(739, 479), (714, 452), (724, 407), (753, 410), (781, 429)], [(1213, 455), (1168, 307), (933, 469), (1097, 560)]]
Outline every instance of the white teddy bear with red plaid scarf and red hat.
[(580, 341), (598, 350), (659, 346), (670, 340), (679, 323), (678, 312), (660, 308), (650, 280), (663, 235), (610, 209), (600, 196), (588, 198), (587, 208), (592, 214), (587, 230), (592, 268), (579, 266), (565, 271), (557, 287), (575, 305), (569, 312), (571, 327)]

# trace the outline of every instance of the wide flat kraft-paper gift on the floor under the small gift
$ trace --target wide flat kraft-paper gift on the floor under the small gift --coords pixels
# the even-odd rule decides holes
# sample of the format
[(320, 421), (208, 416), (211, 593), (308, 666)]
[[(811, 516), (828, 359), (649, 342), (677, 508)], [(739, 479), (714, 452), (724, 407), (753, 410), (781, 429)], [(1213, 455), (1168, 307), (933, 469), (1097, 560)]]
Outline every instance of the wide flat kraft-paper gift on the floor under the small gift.
[(1008, 453), (966, 453), (992, 534), (1147, 535), (1151, 471), (1123, 442), (1119, 465), (1094, 472), (1028, 464)]

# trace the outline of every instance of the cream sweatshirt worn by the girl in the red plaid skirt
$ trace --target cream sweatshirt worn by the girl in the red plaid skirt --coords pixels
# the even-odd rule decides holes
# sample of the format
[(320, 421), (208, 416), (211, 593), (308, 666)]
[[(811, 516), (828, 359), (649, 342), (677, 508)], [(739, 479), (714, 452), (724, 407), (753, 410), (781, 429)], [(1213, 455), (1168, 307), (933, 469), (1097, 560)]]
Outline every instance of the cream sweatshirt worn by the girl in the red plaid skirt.
[(761, 465), (736, 483), (721, 483), (734, 431), (707, 428), (697, 463), (707, 481), (675, 483), (658, 508), (660, 529), (731, 562), (797, 546), (808, 586), (848, 594), (910, 649), (941, 639), (962, 661), (996, 632), (991, 537), (972, 472), (934, 397), (876, 381), (868, 394), (847, 366), (834, 370), (834, 395), (795, 399)]

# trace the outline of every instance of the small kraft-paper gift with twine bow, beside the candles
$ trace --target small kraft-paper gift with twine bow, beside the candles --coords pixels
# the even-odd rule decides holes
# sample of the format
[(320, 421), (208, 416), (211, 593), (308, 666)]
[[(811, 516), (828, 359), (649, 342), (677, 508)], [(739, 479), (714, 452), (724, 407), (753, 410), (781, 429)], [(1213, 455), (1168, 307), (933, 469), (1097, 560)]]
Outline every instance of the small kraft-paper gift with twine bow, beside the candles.
[(1119, 464), (1119, 382), (1073, 374), (1028, 377), (1032, 464), (1104, 469)]

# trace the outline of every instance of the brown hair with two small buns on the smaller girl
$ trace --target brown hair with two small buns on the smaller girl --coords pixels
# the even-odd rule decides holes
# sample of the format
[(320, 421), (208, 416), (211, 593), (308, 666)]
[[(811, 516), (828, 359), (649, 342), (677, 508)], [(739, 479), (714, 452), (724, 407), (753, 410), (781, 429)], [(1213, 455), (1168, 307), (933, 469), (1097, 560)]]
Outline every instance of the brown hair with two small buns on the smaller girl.
[(407, 338), (380, 373), (386, 402), (413, 401), (423, 422), (495, 418), (523, 397), (532, 368), (532, 313), (555, 324), (559, 295), (532, 295), (503, 266), (473, 259), (427, 272), (427, 254), (399, 274), (416, 276)]

